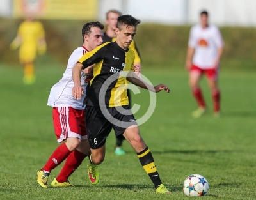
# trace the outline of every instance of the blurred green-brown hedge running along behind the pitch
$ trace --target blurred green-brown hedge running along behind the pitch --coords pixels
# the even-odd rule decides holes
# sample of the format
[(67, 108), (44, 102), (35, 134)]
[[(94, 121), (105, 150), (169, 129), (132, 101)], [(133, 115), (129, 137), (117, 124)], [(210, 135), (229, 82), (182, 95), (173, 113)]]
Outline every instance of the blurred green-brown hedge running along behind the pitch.
[[(71, 52), (81, 46), (82, 20), (40, 20), (44, 24), (47, 41), (45, 63), (52, 60), (66, 67)], [(17, 66), (18, 51), (9, 49), (22, 19), (0, 19), (0, 61)], [(141, 24), (135, 36), (143, 66), (184, 68), (190, 26)], [(253, 70), (256, 66), (256, 30), (253, 27), (220, 27), (225, 42), (221, 59), (223, 68)], [(49, 64), (45, 64), (49, 65)]]

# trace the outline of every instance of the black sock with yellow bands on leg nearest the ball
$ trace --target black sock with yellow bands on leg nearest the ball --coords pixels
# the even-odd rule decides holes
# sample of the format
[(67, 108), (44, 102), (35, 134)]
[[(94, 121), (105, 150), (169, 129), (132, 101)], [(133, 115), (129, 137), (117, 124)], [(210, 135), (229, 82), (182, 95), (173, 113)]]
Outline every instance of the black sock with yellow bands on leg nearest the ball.
[(148, 149), (148, 147), (146, 147), (145, 150), (141, 151), (140, 153), (137, 153), (137, 155), (142, 167), (147, 172), (155, 188), (159, 187), (159, 185), (162, 184), (162, 181), (159, 177), (159, 174), (157, 173), (157, 168), (154, 163), (154, 158), (152, 156), (152, 153)]

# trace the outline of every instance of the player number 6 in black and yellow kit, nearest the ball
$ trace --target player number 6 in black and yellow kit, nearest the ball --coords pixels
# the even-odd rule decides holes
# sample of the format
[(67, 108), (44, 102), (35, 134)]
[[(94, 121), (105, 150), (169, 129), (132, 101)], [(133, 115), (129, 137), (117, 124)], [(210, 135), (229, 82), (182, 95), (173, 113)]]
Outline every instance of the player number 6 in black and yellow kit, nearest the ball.
[(161, 90), (170, 92), (170, 89), (163, 84), (150, 86), (132, 71), (135, 56), (129, 45), (136, 34), (138, 24), (140, 20), (131, 15), (118, 17), (115, 30), (116, 41), (106, 42), (79, 59), (72, 70), (73, 96), (80, 99), (83, 93), (81, 70), (95, 64), (94, 77), (87, 86), (85, 98), (86, 131), (91, 148), (89, 162), (99, 165), (104, 161), (106, 137), (113, 128), (116, 137), (124, 137), (134, 148), (156, 192), (170, 194), (162, 184), (152, 153), (143, 141), (128, 105), (125, 79), (136, 86), (156, 93)]

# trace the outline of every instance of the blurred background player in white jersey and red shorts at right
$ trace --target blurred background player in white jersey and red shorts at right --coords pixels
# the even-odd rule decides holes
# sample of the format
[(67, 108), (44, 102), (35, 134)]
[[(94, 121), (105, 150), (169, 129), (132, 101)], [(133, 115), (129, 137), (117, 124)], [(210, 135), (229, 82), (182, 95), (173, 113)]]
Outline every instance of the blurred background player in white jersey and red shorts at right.
[(194, 118), (199, 118), (206, 111), (206, 104), (199, 86), (200, 78), (204, 73), (211, 88), (214, 116), (220, 116), (220, 89), (217, 81), (223, 47), (220, 30), (208, 23), (207, 11), (201, 12), (200, 24), (191, 27), (186, 57), (189, 85), (198, 104), (198, 109), (192, 112)]

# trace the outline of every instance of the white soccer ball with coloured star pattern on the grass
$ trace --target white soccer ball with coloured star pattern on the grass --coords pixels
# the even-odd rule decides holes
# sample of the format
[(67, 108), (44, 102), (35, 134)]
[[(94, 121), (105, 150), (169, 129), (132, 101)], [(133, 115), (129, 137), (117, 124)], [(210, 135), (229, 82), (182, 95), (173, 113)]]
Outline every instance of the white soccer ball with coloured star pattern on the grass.
[(209, 183), (204, 176), (192, 174), (185, 179), (183, 191), (187, 196), (205, 196), (209, 191)]

